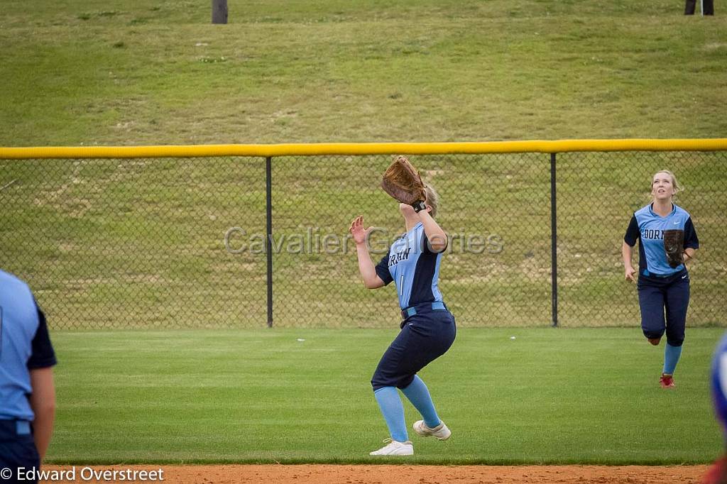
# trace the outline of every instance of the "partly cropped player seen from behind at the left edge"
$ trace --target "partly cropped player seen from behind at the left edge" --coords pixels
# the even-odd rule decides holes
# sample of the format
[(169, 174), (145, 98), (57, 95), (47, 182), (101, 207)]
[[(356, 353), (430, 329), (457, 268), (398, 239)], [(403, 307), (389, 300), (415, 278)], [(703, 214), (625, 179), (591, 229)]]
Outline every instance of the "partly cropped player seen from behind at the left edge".
[(54, 365), (45, 315), (31, 290), (0, 270), (0, 468), (12, 472), (9, 482), (36, 482), (26, 477), (39, 470), (50, 442)]

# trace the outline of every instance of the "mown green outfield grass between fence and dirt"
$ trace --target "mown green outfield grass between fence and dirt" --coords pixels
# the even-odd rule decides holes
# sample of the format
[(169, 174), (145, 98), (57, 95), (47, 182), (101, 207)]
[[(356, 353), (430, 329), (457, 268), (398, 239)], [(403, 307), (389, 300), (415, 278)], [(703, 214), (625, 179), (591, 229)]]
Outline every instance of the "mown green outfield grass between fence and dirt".
[[(387, 437), (369, 379), (396, 331), (56, 331), (48, 460), (382, 461), (368, 456)], [(721, 334), (688, 330), (669, 391), (658, 384), (663, 345), (638, 328), (461, 329), (421, 372), (453, 436), (412, 435), (416, 455), (395, 461), (712, 461), (722, 440), (708, 374)]]

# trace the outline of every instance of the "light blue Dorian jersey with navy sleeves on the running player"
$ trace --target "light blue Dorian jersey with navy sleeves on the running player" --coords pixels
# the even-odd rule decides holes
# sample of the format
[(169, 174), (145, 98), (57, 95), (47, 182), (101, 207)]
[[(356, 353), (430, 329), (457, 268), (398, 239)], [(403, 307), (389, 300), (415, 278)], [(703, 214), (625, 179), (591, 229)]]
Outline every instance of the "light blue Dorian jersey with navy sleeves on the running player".
[(684, 270), (684, 265), (671, 267), (664, 251), (664, 230), (684, 231), (684, 249), (699, 249), (699, 239), (688, 212), (672, 203), (672, 211), (666, 217), (654, 212), (651, 203), (638, 209), (624, 235), (624, 241), (634, 246), (639, 241), (639, 273), (641, 275), (672, 275)]

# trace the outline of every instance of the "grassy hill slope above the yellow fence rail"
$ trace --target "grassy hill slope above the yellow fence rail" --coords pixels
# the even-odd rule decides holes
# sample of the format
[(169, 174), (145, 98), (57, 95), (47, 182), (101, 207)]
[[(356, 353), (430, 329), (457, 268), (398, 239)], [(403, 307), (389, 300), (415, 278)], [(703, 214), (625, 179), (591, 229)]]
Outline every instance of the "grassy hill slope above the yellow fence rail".
[(674, 0), (20, 0), (0, 145), (718, 137), (727, 16)]

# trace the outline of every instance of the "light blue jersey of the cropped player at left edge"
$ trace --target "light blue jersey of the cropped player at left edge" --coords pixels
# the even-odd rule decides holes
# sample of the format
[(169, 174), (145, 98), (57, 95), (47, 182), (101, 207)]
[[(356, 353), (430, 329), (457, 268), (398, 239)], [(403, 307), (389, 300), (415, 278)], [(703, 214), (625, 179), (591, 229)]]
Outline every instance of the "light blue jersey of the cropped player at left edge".
[(0, 420), (33, 420), (33, 368), (55, 365), (45, 316), (20, 279), (0, 270)]

